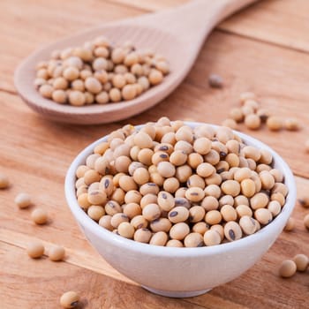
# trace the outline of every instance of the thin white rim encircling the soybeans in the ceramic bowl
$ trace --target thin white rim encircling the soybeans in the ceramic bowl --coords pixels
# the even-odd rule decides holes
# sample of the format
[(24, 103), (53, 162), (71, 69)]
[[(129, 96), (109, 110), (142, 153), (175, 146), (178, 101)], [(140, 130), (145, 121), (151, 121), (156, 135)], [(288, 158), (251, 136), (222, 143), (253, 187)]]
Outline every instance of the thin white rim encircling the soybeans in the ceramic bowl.
[[(186, 121), (184, 123), (191, 127), (206, 124), (200, 122), (186, 122)], [(136, 125), (135, 128), (139, 130), (144, 125), (145, 124), (139, 124)], [(213, 128), (220, 127), (220, 125), (216, 124), (207, 124), (207, 125), (210, 125)], [(79, 207), (76, 198), (75, 172), (80, 164), (85, 163), (87, 155), (91, 155), (93, 153), (94, 147), (100, 144), (102, 141), (106, 141), (109, 135), (105, 135), (101, 139), (95, 140), (93, 143), (91, 143), (89, 146), (87, 146), (81, 152), (79, 152), (79, 155), (77, 155), (73, 160), (71, 166), (67, 170), (64, 182), (64, 192), (67, 204), (70, 207), (72, 214), (79, 222), (79, 226), (86, 226), (86, 228), (90, 230), (90, 232), (93, 233), (95, 236), (99, 238), (103, 237), (105, 238), (106, 241), (114, 242), (115, 245), (117, 244), (123, 247), (124, 249), (128, 249), (135, 252), (144, 252), (147, 253), (148, 255), (155, 255), (155, 256), (188, 257), (188, 256), (212, 255), (227, 252), (237, 248), (243, 248), (250, 242), (258, 242), (260, 238), (267, 238), (270, 235), (269, 233), (271, 233), (271, 231), (273, 231), (274, 234), (279, 229), (280, 232), (278, 234), (280, 234), (283, 230), (282, 221), (287, 222), (295, 206), (296, 201), (296, 192), (297, 192), (296, 184), (294, 176), (290, 170), (290, 167), (280, 155), (278, 155), (271, 147), (268, 147), (259, 139), (252, 138), (251, 136), (245, 133), (237, 132), (235, 130), (233, 132), (235, 132), (241, 139), (243, 139), (247, 145), (254, 145), (256, 147), (268, 150), (273, 155), (273, 160), (275, 161), (275, 164), (278, 165), (277, 167), (279, 168), (279, 170), (283, 172), (284, 184), (287, 185), (289, 188), (288, 196), (286, 198), (284, 207), (282, 208), (280, 214), (277, 215), (275, 219), (272, 222), (270, 222), (267, 226), (263, 227), (258, 232), (252, 235), (242, 237), (234, 242), (224, 243), (220, 245), (203, 246), (198, 248), (188, 248), (188, 247), (177, 248), (177, 247), (166, 247), (166, 246), (157, 246), (157, 245), (139, 243), (137, 241), (121, 237), (109, 230), (104, 229), (97, 222), (94, 222), (94, 220), (92, 220), (85, 213), (85, 211), (81, 207)]]

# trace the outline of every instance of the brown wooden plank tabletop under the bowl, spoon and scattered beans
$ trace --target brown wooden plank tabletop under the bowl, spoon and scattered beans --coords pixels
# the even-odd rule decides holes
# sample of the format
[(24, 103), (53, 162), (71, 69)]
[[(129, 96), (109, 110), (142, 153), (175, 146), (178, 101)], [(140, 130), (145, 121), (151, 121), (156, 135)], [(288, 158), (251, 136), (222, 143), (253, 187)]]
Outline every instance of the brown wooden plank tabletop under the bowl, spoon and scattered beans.
[[(11, 188), (0, 192), (0, 307), (58, 308), (66, 290), (77, 290), (83, 307), (96, 308), (308, 308), (308, 272), (283, 280), (278, 264), (309, 254), (309, 233), (296, 206), (296, 229), (283, 232), (260, 262), (231, 283), (197, 298), (163, 298), (130, 282), (87, 243), (65, 205), (64, 175), (83, 147), (129, 122), (166, 115), (220, 124), (237, 106), (238, 95), (256, 92), (265, 108), (298, 117), (300, 132), (250, 132), (283, 155), (293, 170), (299, 195), (308, 192), (309, 156), (303, 143), (309, 122), (309, 22), (307, 0), (265, 0), (217, 26), (192, 72), (174, 94), (154, 109), (109, 125), (56, 124), (21, 101), (13, 86), (17, 64), (34, 49), (89, 26), (164, 9), (186, 0), (3, 0), (0, 2), (0, 170)], [(208, 0), (210, 1), (210, 0)], [(222, 75), (225, 87), (211, 89), (207, 76)], [(243, 126), (240, 130), (247, 132)], [(13, 203), (29, 192), (34, 205), (49, 211), (47, 226), (34, 226), (31, 209)], [(308, 213), (308, 210), (306, 211)], [(24, 250), (36, 238), (61, 244), (65, 262), (31, 260)]]

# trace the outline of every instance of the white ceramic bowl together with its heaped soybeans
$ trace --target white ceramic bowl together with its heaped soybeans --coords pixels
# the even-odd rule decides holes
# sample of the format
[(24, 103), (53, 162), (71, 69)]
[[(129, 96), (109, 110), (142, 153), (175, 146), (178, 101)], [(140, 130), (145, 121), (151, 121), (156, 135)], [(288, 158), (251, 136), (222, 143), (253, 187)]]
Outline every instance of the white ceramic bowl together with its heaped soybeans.
[(260, 141), (165, 117), (87, 147), (65, 191), (85, 235), (114, 268), (174, 297), (199, 295), (250, 268), (296, 199), (290, 169)]

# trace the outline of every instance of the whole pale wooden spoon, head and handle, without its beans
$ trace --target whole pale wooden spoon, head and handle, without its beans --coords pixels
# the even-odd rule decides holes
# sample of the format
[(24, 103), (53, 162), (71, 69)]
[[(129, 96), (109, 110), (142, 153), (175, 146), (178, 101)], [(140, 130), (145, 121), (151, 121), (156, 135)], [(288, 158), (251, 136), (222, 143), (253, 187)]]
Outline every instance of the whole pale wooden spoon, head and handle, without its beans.
[[(32, 109), (59, 122), (104, 124), (132, 117), (162, 101), (185, 79), (205, 38), (218, 22), (255, 1), (194, 0), (176, 9), (124, 19), (74, 34), (27, 57), (15, 72), (15, 87)], [(155, 50), (170, 62), (170, 74), (160, 85), (128, 102), (73, 107), (42, 98), (34, 88), (35, 64), (49, 59), (55, 49), (79, 46), (100, 35), (106, 35), (114, 43), (132, 41), (138, 49)]]

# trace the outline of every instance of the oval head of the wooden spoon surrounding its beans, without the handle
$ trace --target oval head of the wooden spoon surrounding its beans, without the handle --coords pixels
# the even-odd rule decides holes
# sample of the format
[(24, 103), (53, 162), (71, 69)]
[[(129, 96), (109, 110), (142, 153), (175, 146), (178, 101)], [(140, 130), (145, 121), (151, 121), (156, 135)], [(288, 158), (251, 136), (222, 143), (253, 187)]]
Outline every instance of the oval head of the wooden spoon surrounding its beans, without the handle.
[[(74, 107), (72, 105), (57, 104), (56, 102), (43, 98), (34, 88), (35, 64), (48, 59), (53, 50), (65, 49), (68, 46), (79, 46), (85, 41), (91, 41), (102, 34), (110, 38), (115, 38), (113, 41), (115, 44), (122, 43), (130, 37), (134, 41), (134, 46), (137, 49), (153, 49), (158, 54), (164, 55), (169, 59), (171, 73), (164, 77), (161, 84), (149, 88), (144, 94), (127, 102)], [(173, 57), (172, 54), (175, 50), (169, 49), (169, 44), (179, 50), (177, 57)], [(155, 28), (134, 25), (101, 26), (57, 41), (36, 51), (24, 63), (20, 64), (15, 74), (15, 85), (19, 95), (32, 109), (51, 120), (72, 124), (110, 123), (132, 117), (137, 113), (151, 108), (177, 87), (181, 80), (185, 78), (185, 68), (183, 69), (182, 76), (172, 73), (176, 72), (177, 67), (181, 66), (181, 59), (187, 56), (185, 49), (181, 49), (181, 46), (181, 42), (177, 41), (177, 38)]]

